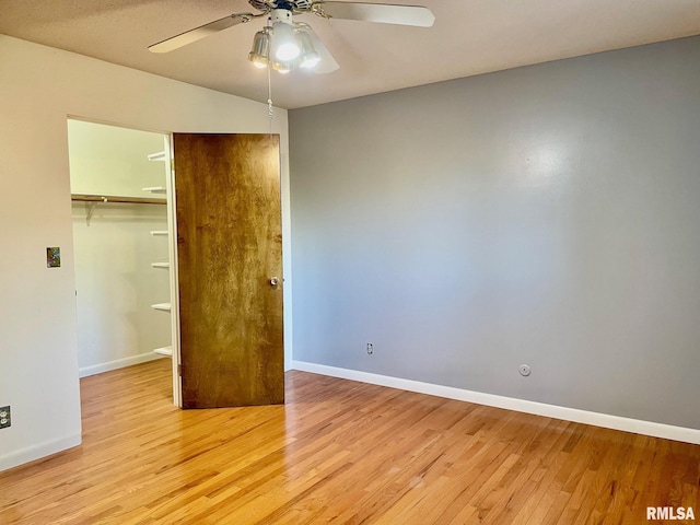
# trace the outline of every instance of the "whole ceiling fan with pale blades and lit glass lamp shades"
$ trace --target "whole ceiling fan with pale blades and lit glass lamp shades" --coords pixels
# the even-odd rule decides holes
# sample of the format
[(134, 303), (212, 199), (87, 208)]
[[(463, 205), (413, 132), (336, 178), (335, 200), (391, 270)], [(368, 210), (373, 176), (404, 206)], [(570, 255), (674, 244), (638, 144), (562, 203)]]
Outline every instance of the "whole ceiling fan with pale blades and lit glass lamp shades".
[(168, 52), (253, 19), (267, 16), (267, 25), (255, 34), (248, 55), (254, 66), (287, 73), (295, 68), (329, 73), (340, 66), (320, 38), (303, 22), (294, 22), (293, 15), (313, 13), (324, 19), (346, 19), (385, 24), (430, 27), (433, 13), (421, 5), (389, 3), (338, 2), (324, 0), (248, 0), (258, 13), (233, 13), (194, 30), (149, 46), (152, 52)]

